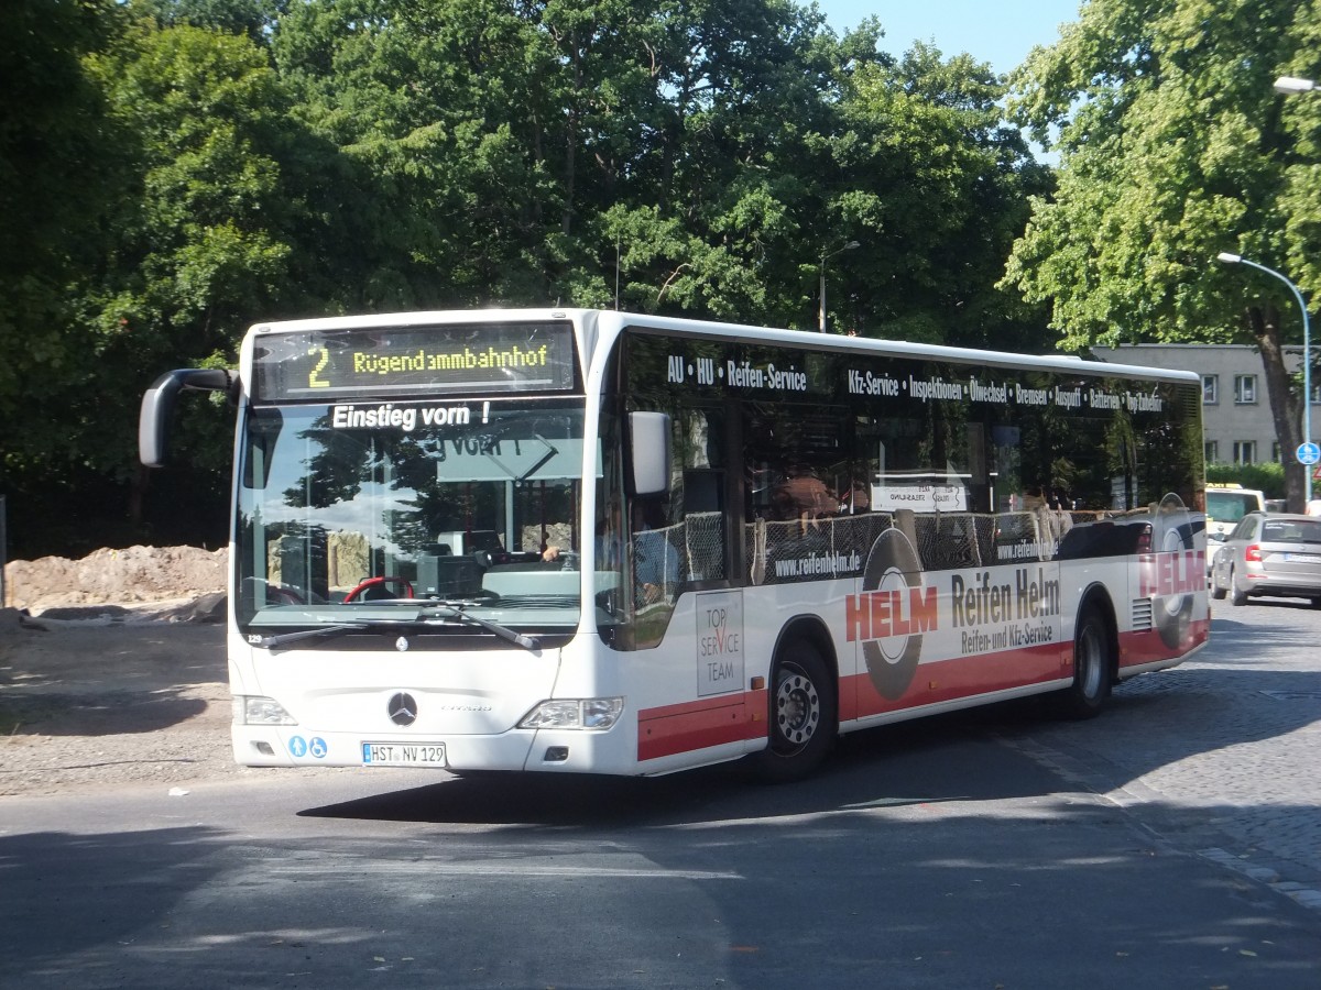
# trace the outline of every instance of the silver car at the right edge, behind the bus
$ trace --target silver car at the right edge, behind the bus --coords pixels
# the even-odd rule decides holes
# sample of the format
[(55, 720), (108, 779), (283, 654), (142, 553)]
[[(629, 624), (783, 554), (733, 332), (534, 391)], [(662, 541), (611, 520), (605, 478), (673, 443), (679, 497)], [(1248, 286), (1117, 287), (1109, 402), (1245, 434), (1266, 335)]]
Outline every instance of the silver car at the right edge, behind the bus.
[(1248, 512), (1215, 550), (1211, 598), (1310, 598), (1321, 607), (1321, 519)]

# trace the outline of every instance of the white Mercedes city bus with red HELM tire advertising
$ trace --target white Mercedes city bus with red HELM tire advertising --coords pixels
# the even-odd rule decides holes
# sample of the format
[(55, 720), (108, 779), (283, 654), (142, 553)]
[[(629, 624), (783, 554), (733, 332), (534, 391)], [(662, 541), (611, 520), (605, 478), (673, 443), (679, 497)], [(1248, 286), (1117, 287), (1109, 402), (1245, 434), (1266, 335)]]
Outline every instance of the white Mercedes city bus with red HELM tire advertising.
[(229, 606), (248, 766), (811, 771), (840, 733), (1206, 643), (1197, 375), (579, 309), (263, 323)]

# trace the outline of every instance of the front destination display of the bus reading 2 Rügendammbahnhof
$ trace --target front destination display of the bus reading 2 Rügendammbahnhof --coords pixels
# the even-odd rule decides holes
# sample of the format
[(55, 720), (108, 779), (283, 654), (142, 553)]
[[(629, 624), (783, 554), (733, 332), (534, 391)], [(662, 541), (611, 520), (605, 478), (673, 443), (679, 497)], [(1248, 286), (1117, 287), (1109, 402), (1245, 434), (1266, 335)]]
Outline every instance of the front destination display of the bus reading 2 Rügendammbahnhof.
[(568, 321), (273, 331), (254, 341), (259, 401), (571, 392)]

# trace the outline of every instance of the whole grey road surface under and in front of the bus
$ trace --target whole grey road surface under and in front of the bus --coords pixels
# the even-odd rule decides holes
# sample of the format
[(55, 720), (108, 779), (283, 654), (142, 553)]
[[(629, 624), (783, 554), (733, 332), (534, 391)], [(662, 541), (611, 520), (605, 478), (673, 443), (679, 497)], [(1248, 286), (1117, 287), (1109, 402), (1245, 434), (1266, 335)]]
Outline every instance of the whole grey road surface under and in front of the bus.
[(766, 788), (275, 771), (0, 799), (0, 986), (1308, 987), (1321, 612), (1086, 723), (988, 709)]

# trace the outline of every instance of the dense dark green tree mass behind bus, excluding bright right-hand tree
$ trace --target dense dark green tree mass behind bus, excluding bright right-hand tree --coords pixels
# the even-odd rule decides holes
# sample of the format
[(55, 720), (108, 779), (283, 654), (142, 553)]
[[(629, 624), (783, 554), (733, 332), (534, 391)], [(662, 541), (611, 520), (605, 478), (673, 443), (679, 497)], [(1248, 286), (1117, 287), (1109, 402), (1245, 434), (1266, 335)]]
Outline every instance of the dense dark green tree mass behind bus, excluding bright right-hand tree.
[[(811, 329), (824, 276), (834, 327), (1028, 346), (1041, 310), (996, 281), (1049, 173), (985, 65), (880, 37), (791, 0), (0, 5), (20, 552), (219, 539), (225, 417), (196, 404), (192, 466), (147, 498), (136, 404), (263, 318), (618, 301)], [(75, 511), (127, 528), (38, 524)]]

